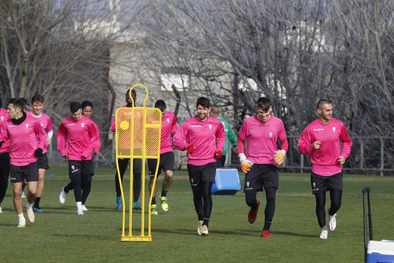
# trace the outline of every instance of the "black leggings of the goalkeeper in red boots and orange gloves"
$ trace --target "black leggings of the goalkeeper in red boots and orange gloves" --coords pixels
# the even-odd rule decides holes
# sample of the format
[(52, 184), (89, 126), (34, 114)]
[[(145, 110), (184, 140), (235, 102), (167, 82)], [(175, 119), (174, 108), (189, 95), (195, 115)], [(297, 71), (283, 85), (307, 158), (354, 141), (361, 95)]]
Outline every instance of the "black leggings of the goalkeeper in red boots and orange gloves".
[[(276, 188), (275, 187), (267, 187), (264, 189), (266, 191), (266, 209), (264, 210), (264, 228), (263, 230), (269, 230), (271, 228), (272, 218), (275, 213), (275, 195)], [(246, 204), (250, 206), (253, 210), (257, 209), (257, 200), (256, 200), (257, 192), (247, 192), (245, 194)]]

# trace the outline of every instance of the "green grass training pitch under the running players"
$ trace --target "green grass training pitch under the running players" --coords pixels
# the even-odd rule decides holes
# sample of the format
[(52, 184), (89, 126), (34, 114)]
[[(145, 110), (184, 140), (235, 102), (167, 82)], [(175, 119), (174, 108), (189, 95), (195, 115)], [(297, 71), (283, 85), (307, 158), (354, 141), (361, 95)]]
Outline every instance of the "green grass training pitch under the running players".
[[(260, 233), (264, 224), (264, 192), (258, 193), (262, 206), (254, 224), (247, 221), (249, 207), (242, 192), (213, 196), (209, 235), (201, 237), (197, 234), (197, 215), (187, 172), (175, 171), (167, 194), (169, 211), (164, 213), (158, 205), (159, 215), (152, 216), (152, 242), (121, 242), (122, 213), (115, 209), (114, 169), (96, 169), (86, 202), (89, 211), (84, 216), (76, 215), (72, 192), (63, 205), (59, 203), (61, 188), (69, 182), (67, 169), (51, 168), (48, 173), (54, 173), (54, 177), (45, 178), (40, 203), (44, 213), (35, 213), (36, 221), (30, 224), (24, 209), (25, 228), (16, 228), (18, 218), (9, 183), (1, 205), (4, 213), (0, 214), (2, 262), (361, 262), (364, 260), (361, 190), (366, 186), (371, 187), (374, 239), (394, 239), (394, 177), (345, 175), (336, 229), (329, 231), (328, 239), (323, 240), (318, 238), (320, 227), (310, 191), (310, 175), (281, 173), (272, 238), (263, 239)], [(146, 187), (148, 180), (146, 176)], [(128, 183), (129, 180), (124, 181), (125, 185)], [(158, 189), (161, 185), (162, 175)], [(133, 233), (138, 234), (141, 213), (134, 216)]]

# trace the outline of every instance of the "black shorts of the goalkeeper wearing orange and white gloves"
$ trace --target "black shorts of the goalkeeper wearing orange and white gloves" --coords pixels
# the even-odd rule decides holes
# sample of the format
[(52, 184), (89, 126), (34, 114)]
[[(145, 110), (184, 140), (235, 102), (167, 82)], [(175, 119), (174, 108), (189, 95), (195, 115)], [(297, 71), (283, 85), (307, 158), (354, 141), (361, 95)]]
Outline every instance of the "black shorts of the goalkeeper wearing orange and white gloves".
[(244, 193), (262, 191), (263, 187), (279, 187), (279, 169), (273, 164), (253, 164), (245, 174)]

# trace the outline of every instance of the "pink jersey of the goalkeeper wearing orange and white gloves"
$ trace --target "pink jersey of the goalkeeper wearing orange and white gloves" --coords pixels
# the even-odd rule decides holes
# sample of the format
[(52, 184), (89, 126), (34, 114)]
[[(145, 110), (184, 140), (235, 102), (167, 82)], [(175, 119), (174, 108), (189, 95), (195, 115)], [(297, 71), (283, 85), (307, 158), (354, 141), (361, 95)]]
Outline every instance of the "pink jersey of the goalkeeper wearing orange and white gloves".
[[(287, 151), (288, 143), (284, 125), (281, 119), (271, 115), (268, 121), (260, 121), (253, 115), (243, 121), (238, 141), (247, 140), (246, 158), (255, 164), (273, 164), (275, 151), (278, 150), (277, 139), (281, 141), (281, 149)], [(238, 153), (243, 153), (243, 144), (238, 147)]]

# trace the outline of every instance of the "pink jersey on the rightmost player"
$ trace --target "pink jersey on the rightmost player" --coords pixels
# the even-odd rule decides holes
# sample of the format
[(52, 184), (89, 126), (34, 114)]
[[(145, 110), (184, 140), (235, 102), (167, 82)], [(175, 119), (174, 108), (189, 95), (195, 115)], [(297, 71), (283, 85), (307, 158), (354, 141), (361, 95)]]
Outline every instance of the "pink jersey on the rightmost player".
[[(320, 141), (320, 148), (312, 150), (312, 143)], [(342, 142), (342, 152), (340, 142)], [(327, 124), (319, 119), (312, 121), (301, 133), (298, 149), (302, 154), (310, 154), (312, 172), (322, 176), (329, 176), (342, 171), (342, 165), (337, 161), (342, 155), (345, 159), (350, 154), (352, 140), (344, 123), (331, 118)]]

